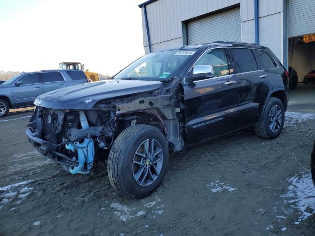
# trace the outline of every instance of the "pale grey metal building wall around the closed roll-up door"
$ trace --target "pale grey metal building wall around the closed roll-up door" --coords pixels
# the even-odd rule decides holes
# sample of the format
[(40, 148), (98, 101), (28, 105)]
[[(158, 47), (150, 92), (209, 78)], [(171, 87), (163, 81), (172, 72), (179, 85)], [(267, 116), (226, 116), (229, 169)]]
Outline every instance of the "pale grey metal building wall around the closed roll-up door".
[[(315, 1), (315, 0), (314, 0)], [(270, 47), (279, 59), (283, 56), (283, 2), (284, 0), (259, 0), (259, 40)], [(147, 5), (152, 50), (158, 51), (183, 45), (183, 22), (211, 14), (214, 11), (240, 4), (241, 39), (255, 42), (254, 0), (157, 0)], [(143, 44), (149, 53), (143, 17)], [(185, 30), (184, 30), (185, 33)], [(184, 34), (184, 42), (186, 34)]]

